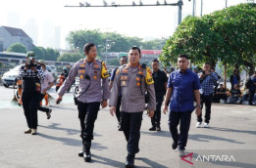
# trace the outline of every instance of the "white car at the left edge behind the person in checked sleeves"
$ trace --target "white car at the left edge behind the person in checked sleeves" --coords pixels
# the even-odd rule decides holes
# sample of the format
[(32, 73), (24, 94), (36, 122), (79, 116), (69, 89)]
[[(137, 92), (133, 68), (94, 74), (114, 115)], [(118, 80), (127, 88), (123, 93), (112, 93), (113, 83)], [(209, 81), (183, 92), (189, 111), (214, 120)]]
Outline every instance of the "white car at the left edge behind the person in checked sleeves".
[(20, 67), (21, 65), (18, 65), (3, 74), (2, 83), (6, 88), (8, 88), (11, 85), (16, 85), (16, 82), (17, 82), (16, 76), (19, 73)]

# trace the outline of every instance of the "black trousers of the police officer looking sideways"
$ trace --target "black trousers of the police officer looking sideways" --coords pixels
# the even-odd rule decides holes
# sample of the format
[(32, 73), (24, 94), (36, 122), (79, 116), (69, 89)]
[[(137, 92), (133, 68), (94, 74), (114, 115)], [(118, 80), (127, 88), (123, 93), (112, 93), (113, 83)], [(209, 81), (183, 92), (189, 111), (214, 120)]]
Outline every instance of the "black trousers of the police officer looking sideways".
[(78, 118), (80, 120), (80, 137), (84, 142), (91, 142), (93, 140), (94, 122), (97, 119), (99, 106), (99, 102), (77, 102)]

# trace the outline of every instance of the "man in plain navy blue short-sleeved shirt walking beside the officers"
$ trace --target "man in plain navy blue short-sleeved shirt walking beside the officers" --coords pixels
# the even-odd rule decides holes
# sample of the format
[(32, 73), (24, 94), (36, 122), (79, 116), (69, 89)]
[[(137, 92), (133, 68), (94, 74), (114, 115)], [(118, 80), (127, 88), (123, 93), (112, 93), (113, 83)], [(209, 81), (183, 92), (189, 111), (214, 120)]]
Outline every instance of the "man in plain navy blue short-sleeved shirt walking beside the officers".
[[(171, 99), (169, 105), (169, 128), (174, 140), (172, 147), (176, 149), (179, 146), (180, 157), (185, 155), (184, 149), (188, 137), (191, 113), (196, 108), (196, 115), (201, 114), (199, 94), (201, 87), (199, 79), (197, 74), (187, 68), (188, 64), (188, 57), (186, 55), (179, 55), (179, 70), (170, 74), (164, 107), (164, 113), (166, 113), (169, 100)], [(194, 101), (196, 101), (196, 106), (194, 106)]]

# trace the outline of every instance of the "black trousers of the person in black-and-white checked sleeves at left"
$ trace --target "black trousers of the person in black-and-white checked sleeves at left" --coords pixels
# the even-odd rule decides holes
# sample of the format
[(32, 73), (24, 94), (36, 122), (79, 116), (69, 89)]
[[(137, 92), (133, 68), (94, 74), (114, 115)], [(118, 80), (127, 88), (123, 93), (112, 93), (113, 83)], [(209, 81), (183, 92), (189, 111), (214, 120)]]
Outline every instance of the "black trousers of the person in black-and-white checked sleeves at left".
[(37, 129), (37, 108), (40, 102), (40, 93), (23, 92), (22, 100), (27, 127)]

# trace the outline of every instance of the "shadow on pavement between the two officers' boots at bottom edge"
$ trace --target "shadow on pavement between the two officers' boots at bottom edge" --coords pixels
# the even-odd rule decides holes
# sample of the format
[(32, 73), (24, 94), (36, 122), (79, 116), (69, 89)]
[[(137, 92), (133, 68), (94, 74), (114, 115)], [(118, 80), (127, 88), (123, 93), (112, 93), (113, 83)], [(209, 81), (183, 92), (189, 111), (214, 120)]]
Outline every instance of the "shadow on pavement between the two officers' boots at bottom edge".
[[(95, 160), (93, 158), (96, 158), (97, 160)], [(113, 160), (113, 159), (110, 159), (110, 158), (107, 158), (107, 157), (102, 157), (102, 156), (99, 156), (99, 155), (94, 155), (92, 153), (91, 163), (93, 163), (93, 162), (100, 163), (100, 164), (103, 164), (103, 165), (109, 165), (111, 167), (125, 167), (125, 161), (123, 163), (123, 162), (116, 161), (116, 160)]]

